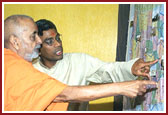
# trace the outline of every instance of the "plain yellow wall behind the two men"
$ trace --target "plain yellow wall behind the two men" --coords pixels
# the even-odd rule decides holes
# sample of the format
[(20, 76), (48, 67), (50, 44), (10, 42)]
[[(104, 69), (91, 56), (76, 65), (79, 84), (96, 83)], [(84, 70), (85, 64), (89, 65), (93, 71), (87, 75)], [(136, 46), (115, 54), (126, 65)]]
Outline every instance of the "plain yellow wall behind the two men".
[[(103, 61), (115, 61), (117, 4), (5, 4), (4, 18), (12, 14), (29, 15), (35, 21), (44, 18), (53, 21), (63, 35), (64, 52), (84, 52)], [(91, 103), (102, 100), (109, 98)], [(112, 110), (112, 106), (109, 108)]]

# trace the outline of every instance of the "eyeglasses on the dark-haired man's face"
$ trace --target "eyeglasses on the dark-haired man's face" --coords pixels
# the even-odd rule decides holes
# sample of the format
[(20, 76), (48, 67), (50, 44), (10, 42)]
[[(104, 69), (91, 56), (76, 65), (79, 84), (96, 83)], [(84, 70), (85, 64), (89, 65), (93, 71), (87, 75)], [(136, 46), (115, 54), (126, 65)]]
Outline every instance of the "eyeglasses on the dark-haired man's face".
[(62, 41), (61, 41), (61, 35), (60, 35), (60, 34), (57, 34), (56, 37), (55, 37), (55, 39), (54, 39), (53, 37), (47, 38), (47, 39), (45, 39), (45, 40), (43, 41), (43, 43), (46, 43), (47, 45), (52, 46), (52, 45), (54, 44), (54, 41), (55, 41), (55, 40), (56, 40), (57, 42), (61, 43), (61, 42), (62, 42)]

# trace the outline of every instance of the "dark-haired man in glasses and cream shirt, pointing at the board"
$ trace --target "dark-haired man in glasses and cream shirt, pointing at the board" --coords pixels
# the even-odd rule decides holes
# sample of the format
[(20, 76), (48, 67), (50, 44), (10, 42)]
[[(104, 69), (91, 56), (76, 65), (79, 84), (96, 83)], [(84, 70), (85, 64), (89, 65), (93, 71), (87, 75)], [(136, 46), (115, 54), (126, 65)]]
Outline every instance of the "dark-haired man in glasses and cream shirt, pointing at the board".
[[(33, 66), (68, 85), (89, 85), (135, 80), (149, 76), (149, 65), (155, 63), (134, 59), (129, 62), (107, 63), (84, 53), (64, 53), (60, 34), (49, 20), (36, 22), (42, 40), (40, 57)], [(143, 69), (143, 71), (141, 71)], [(88, 102), (70, 103), (68, 110), (88, 110)]]

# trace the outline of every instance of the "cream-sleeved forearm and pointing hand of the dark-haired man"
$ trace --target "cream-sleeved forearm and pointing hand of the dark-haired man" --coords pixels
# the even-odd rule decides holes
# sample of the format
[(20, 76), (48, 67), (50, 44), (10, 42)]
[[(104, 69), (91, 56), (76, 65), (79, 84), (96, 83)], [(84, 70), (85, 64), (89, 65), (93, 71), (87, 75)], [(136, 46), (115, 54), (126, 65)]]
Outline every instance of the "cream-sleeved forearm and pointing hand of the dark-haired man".
[(88, 81), (98, 83), (123, 82), (137, 79), (137, 76), (148, 77), (150, 65), (155, 64), (158, 60), (144, 62), (136, 58), (128, 62), (114, 62), (102, 64), (97, 71), (88, 77)]

